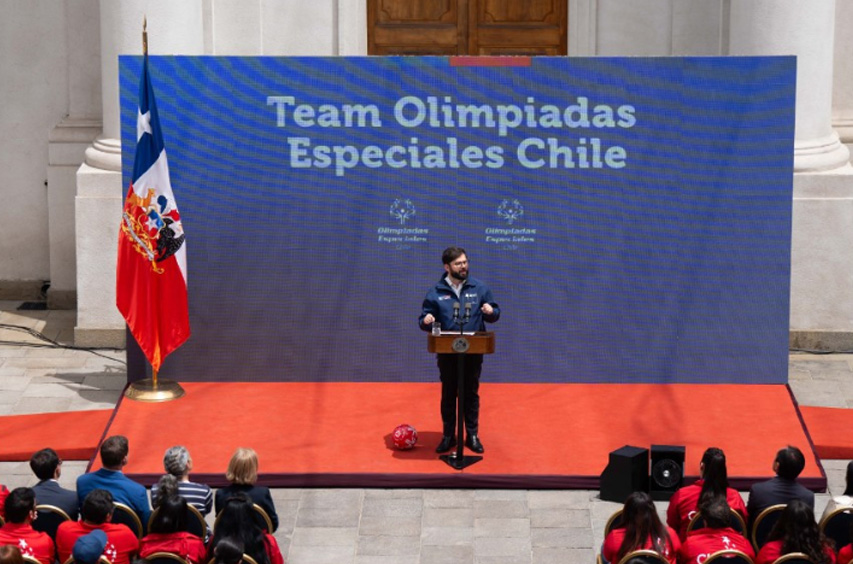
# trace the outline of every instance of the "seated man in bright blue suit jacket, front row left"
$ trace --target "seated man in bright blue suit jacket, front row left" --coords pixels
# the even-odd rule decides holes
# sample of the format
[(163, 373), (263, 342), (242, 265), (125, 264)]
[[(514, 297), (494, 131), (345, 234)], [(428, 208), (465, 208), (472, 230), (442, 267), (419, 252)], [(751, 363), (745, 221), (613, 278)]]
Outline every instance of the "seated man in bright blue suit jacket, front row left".
[(77, 501), (82, 507), (89, 492), (95, 489), (107, 490), (113, 494), (116, 503), (123, 503), (136, 511), (144, 529), (151, 516), (151, 505), (145, 486), (137, 484), (121, 471), (127, 465), (128, 450), (127, 438), (121, 435), (114, 435), (101, 443), (103, 468), (77, 478)]

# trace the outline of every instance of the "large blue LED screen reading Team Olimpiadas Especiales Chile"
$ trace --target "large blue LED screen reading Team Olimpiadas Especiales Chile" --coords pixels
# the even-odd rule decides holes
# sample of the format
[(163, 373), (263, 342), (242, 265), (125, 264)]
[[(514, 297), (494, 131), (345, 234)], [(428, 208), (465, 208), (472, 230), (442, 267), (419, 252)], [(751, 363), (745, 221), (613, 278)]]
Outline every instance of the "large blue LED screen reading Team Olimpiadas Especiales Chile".
[(434, 381), (458, 245), (502, 310), (487, 381), (787, 381), (793, 57), (149, 64), (192, 325), (164, 377)]

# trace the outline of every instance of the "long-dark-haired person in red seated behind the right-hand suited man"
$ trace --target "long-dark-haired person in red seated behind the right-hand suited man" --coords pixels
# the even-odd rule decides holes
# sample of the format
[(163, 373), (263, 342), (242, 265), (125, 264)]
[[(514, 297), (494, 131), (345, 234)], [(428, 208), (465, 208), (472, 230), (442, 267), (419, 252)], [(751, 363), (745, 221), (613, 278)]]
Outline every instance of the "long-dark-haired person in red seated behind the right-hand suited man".
[(785, 507), (767, 542), (758, 551), (755, 564), (771, 564), (790, 552), (807, 554), (813, 564), (835, 564), (835, 551), (820, 532), (814, 511), (799, 499), (791, 500)]

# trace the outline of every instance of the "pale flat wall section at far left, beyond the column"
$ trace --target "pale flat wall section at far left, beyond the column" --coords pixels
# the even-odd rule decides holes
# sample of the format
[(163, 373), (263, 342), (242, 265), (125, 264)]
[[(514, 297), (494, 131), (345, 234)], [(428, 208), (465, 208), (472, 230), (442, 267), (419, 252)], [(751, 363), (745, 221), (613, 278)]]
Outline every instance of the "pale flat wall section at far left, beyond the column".
[(65, 7), (0, 0), (0, 296), (36, 297), (50, 278), (45, 182), (48, 135), (68, 111)]

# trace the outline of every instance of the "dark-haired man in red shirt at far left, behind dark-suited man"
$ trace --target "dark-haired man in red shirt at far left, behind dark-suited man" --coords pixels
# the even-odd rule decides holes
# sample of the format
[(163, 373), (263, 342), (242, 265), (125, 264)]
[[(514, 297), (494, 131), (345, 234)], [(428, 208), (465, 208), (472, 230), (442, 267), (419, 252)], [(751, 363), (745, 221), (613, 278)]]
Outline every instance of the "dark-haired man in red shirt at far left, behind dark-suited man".
[(4, 503), (6, 524), (0, 527), (0, 545), (13, 544), (24, 556), (32, 556), (42, 564), (53, 564), (56, 551), (47, 533), (33, 529), (36, 494), (32, 488), (15, 488)]

